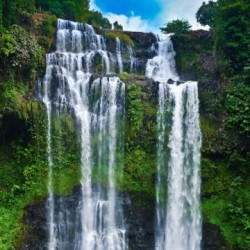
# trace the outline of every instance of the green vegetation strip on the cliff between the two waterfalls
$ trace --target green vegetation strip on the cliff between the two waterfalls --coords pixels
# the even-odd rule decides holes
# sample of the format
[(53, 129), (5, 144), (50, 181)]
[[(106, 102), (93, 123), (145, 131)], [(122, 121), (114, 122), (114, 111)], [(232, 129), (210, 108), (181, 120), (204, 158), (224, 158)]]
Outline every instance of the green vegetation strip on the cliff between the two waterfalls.
[[(123, 190), (140, 193), (137, 200), (145, 202), (155, 195), (156, 99), (148, 86), (140, 85), (141, 81), (147, 81), (144, 76), (123, 73), (120, 77), (127, 86), (127, 118), (124, 174), (119, 185)], [(148, 84), (150, 86), (151, 82)]]

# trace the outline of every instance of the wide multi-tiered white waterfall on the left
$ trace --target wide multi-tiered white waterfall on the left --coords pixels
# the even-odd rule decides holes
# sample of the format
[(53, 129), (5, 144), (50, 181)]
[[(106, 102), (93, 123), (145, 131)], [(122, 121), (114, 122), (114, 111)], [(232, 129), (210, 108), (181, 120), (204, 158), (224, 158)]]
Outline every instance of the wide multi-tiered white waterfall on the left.
[[(115, 175), (120, 171), (117, 155), (122, 150), (118, 121), (124, 115), (125, 86), (118, 77), (108, 76), (110, 55), (105, 40), (90, 25), (59, 19), (57, 28), (56, 51), (46, 56), (40, 93), (48, 117), (46, 249), (126, 250), (115, 188)], [(96, 60), (106, 76), (93, 80)], [(120, 61), (117, 63), (121, 70)], [(54, 195), (53, 118), (65, 113), (74, 119), (80, 145), (81, 191), (74, 201)]]

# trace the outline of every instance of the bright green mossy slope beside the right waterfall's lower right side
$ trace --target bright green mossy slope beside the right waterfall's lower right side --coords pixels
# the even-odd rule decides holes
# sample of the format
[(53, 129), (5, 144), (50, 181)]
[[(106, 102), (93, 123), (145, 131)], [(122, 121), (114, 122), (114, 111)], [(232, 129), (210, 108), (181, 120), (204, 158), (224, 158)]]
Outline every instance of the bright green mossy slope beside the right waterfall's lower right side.
[(249, 249), (250, 202), (247, 177), (229, 168), (229, 161), (202, 158), (203, 220), (217, 225), (226, 249)]

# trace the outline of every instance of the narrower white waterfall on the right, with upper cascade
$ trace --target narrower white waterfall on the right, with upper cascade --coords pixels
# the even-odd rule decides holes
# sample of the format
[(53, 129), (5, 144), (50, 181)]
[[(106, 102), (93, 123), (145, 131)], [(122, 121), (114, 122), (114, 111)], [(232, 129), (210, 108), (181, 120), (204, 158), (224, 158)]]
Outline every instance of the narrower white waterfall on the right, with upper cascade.
[[(201, 132), (197, 82), (179, 84), (169, 38), (153, 49), (157, 55), (148, 61), (146, 75), (159, 82), (155, 249), (199, 250)], [(167, 83), (169, 79), (172, 84)]]

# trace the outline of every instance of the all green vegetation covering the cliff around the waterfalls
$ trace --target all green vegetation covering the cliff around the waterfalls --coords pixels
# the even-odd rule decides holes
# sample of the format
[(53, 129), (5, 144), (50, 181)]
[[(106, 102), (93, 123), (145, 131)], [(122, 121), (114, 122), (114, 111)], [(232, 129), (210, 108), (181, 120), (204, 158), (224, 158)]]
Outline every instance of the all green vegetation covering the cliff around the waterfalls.
[[(209, 25), (210, 32), (190, 31), (185, 20), (161, 28), (163, 33), (175, 33), (180, 74), (200, 80), (203, 220), (220, 229), (224, 249), (250, 249), (249, 13), (248, 0), (209, 1), (196, 18)], [(90, 11), (88, 0), (0, 0), (0, 249), (4, 250), (17, 248), (22, 240), (25, 207), (47, 196), (47, 117), (45, 108), (32, 101), (32, 93), (36, 78), (44, 74), (44, 55), (54, 44), (58, 17), (88, 22), (107, 39), (118, 37), (137, 46), (117, 22), (111, 30), (112, 24), (100, 12)], [(103, 70), (99, 59), (96, 73)], [(124, 174), (117, 174), (118, 186), (139, 193), (141, 201), (154, 199), (156, 97), (144, 76), (123, 73), (120, 78), (126, 83), (126, 121)], [(53, 114), (52, 125), (54, 189), (67, 195), (80, 181), (79, 141), (69, 115), (59, 119)]]

